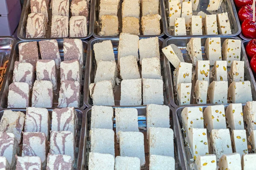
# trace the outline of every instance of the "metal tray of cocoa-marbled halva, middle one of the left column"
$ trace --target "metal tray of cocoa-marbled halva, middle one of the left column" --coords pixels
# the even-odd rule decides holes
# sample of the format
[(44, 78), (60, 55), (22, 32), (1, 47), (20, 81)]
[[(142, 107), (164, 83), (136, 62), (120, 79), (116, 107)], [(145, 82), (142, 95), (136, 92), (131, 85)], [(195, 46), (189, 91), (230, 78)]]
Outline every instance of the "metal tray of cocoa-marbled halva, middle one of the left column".
[[(36, 40), (36, 41), (39, 42), (40, 40)], [(22, 42), (32, 42), (32, 40), (30, 40), (30, 41), (29, 40), (19, 40), (14, 44), (14, 50), (12, 53), (12, 57), (9, 60), (9, 67), (6, 70), (7, 77), (6, 77), (5, 81), (3, 82), (3, 88), (0, 91), (0, 96), (2, 96), (2, 98), (0, 99), (0, 107), (1, 108), (7, 108), (9, 85), (12, 83), (12, 76), (13, 76), (15, 61), (19, 61), (19, 44)], [(79, 108), (85, 109), (86, 106), (83, 104), (83, 92), (84, 92), (83, 85), (84, 85), (85, 60), (86, 60), (87, 43), (88, 42), (87, 42), (87, 40), (83, 40), (82, 42), (83, 42), (83, 46), (84, 46), (84, 66), (82, 69), (82, 81), (81, 81), (81, 91), (80, 91), (81, 99), (80, 99), (80, 107)], [(63, 61), (64, 60), (64, 58), (63, 58), (63, 40), (58, 40), (58, 47), (59, 47), (59, 52), (61, 55), (61, 61)], [(40, 53), (39, 53), (39, 59), (41, 59)], [(58, 87), (57, 87), (57, 90), (53, 91), (52, 108), (57, 108), (57, 106), (58, 106), (58, 97), (59, 97), (59, 91), (60, 91), (60, 86), (61, 86), (60, 69), (57, 70), (57, 74), (58, 74), (58, 78), (57, 78)], [(32, 95), (32, 91), (31, 91), (30, 96), (31, 95)]]

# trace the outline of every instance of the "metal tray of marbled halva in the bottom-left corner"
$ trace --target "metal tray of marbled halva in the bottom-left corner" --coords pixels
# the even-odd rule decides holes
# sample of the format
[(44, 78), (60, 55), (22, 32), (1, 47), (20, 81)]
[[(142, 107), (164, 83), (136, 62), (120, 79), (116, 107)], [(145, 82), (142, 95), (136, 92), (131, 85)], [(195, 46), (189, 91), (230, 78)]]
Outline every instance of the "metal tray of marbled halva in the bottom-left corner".
[[(21, 111), (23, 113), (26, 114), (26, 108), (12, 108), (12, 109), (4, 109), (0, 111), (0, 119), (2, 119), (3, 116), (3, 112), (5, 110), (12, 110), (12, 111)], [(49, 116), (50, 119), (52, 119), (52, 110), (53, 109), (48, 109), (49, 111)], [(75, 149), (75, 164), (74, 164), (74, 169), (75, 170), (84, 170), (84, 143), (85, 143), (85, 119), (86, 119), (86, 115), (85, 112), (79, 109), (76, 109), (76, 113), (77, 113), (77, 117), (78, 117), (78, 126), (77, 126), (77, 131), (76, 131), (76, 138), (75, 138), (75, 144), (76, 144), (76, 149)], [(52, 121), (51, 121), (52, 122)], [(50, 127), (52, 127), (52, 125), (50, 125)], [(48, 142), (47, 142), (48, 144)], [(49, 148), (48, 148), (49, 149)], [(20, 143), (20, 155), (21, 156), (21, 151), (22, 151), (22, 141)], [(49, 150), (47, 151), (49, 153)], [(48, 154), (47, 154), (48, 155)]]

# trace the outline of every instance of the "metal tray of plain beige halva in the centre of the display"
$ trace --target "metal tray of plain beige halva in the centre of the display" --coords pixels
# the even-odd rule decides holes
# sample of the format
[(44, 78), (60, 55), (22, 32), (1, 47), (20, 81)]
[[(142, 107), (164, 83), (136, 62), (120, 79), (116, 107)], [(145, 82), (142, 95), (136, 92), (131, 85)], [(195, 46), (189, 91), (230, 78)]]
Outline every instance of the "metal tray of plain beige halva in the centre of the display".
[[(94, 57), (94, 51), (93, 51), (93, 44), (97, 42), (102, 42), (104, 40), (111, 40), (113, 44), (113, 50), (115, 54), (115, 59), (117, 62), (117, 48), (119, 44), (119, 38), (118, 39), (97, 39), (93, 38), (88, 42), (88, 50), (87, 50), (87, 60), (86, 60), (86, 73), (85, 73), (85, 81), (84, 81), (84, 105), (86, 105), (88, 108), (93, 105), (93, 100), (90, 97), (90, 91), (89, 91), (89, 85), (90, 83), (94, 82), (97, 66), (96, 66), (96, 60)], [(163, 38), (159, 38), (159, 49), (160, 49), (160, 63), (161, 63), (161, 75), (163, 77), (163, 96), (164, 96), (164, 105), (169, 105), (170, 104), (170, 98), (169, 98), (169, 78), (168, 78), (168, 70), (166, 69), (166, 57), (164, 54), (162, 54), (162, 47), (163, 47)], [(139, 70), (141, 73), (141, 65), (138, 64)], [(118, 74), (118, 78), (120, 79), (120, 75)], [(120, 103), (120, 96), (121, 96), (121, 85), (115, 85), (113, 89), (114, 93), (114, 100), (115, 100), (115, 106), (119, 106)], [(138, 105), (142, 106), (142, 105)], [(133, 106), (131, 106), (133, 107)]]

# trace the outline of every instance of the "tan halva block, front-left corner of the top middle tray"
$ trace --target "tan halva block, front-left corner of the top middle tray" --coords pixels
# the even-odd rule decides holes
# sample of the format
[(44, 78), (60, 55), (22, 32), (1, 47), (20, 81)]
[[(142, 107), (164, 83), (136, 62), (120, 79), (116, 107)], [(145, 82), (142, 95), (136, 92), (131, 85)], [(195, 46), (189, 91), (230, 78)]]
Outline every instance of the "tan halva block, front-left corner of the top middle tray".
[(114, 15), (102, 15), (102, 29), (99, 36), (116, 36), (119, 34), (118, 17)]

